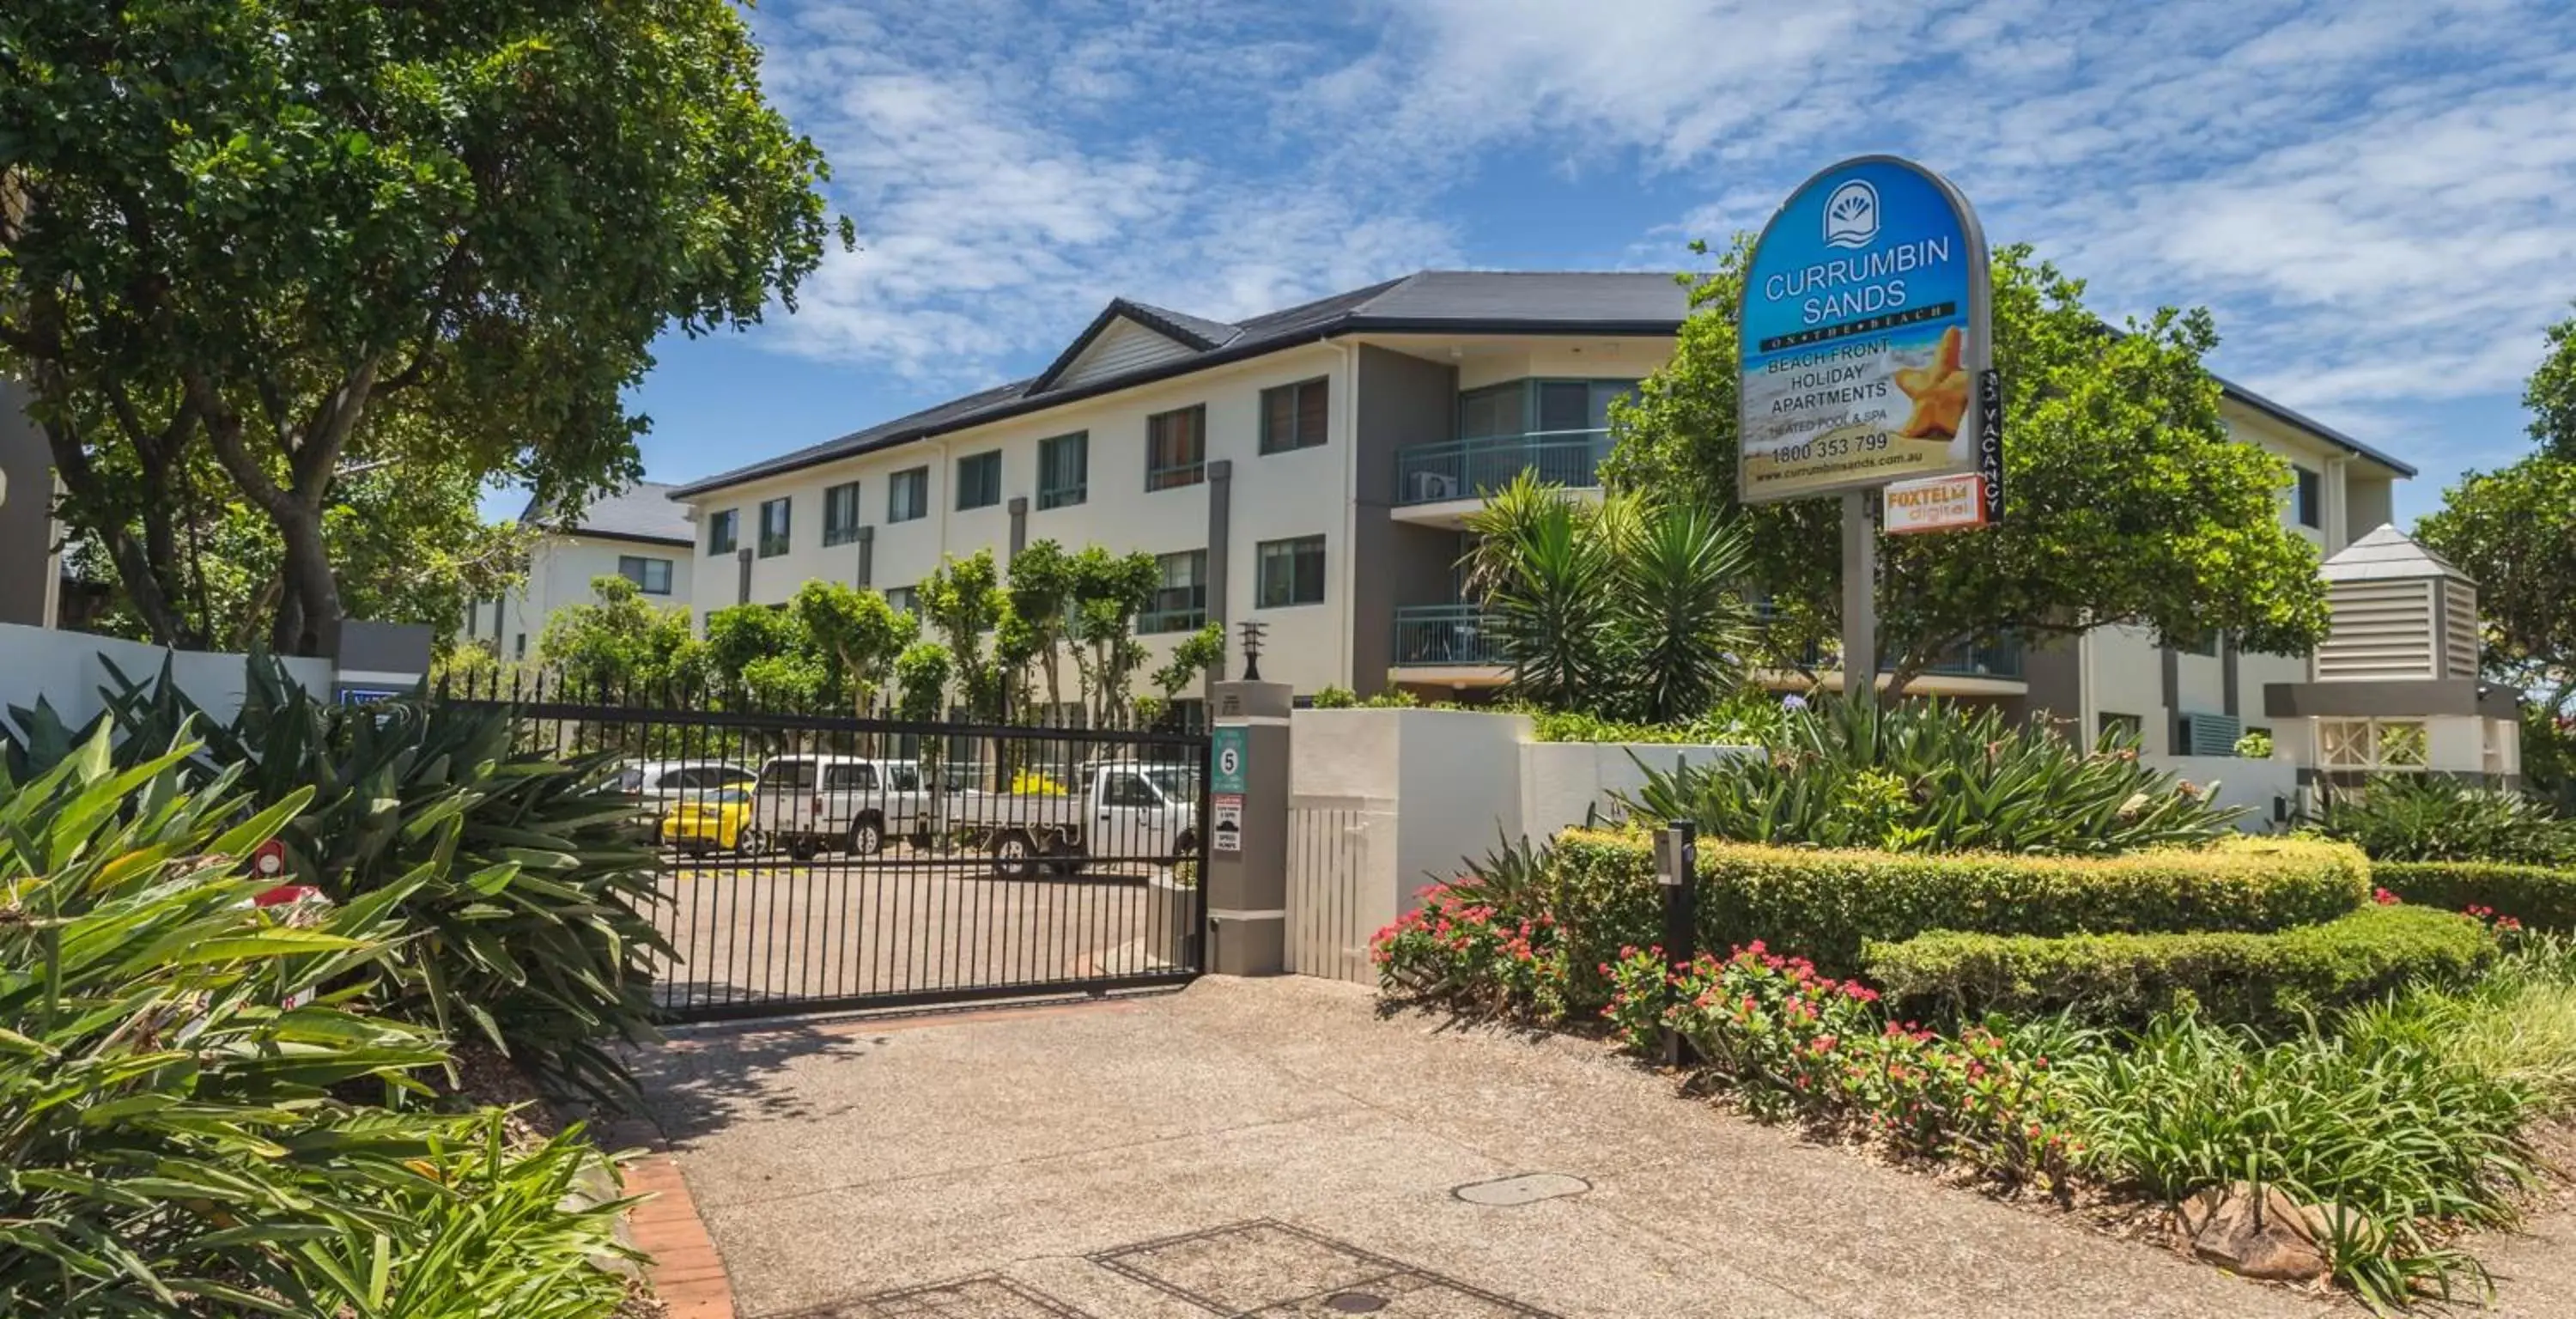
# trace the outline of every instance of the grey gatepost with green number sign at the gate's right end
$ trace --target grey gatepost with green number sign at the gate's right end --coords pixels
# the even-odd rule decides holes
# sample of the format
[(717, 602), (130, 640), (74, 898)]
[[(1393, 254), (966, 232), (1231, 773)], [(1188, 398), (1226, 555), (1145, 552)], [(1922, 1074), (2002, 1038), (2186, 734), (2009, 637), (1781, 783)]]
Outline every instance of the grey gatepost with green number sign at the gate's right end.
[(1288, 969), (1288, 683), (1208, 688), (1208, 971)]

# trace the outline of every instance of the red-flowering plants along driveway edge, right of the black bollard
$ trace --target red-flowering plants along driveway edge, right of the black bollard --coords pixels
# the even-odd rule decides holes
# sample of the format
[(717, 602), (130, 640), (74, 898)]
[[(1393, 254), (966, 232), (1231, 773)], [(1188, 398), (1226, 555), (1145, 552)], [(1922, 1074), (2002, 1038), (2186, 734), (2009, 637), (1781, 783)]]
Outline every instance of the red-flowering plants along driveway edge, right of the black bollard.
[[(1973, 1025), (1958, 1038), (1886, 1020), (1878, 992), (1762, 943), (1667, 971), (1662, 951), (1602, 969), (1623, 1043), (1682, 1030), (1757, 1118), (1862, 1128), (1914, 1157), (1968, 1159), (2009, 1182), (2063, 1185), (2079, 1154), (2048, 1072), (2048, 1033)], [(2063, 1043), (2063, 1041), (2061, 1041)]]

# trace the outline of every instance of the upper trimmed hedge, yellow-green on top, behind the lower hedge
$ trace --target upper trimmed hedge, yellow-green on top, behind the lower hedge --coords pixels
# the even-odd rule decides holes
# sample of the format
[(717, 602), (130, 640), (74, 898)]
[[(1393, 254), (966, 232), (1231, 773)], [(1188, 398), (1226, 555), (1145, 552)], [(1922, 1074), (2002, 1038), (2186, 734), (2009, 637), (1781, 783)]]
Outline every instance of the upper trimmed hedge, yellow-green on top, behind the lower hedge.
[[(1548, 866), (1551, 912), (1577, 976), (1623, 945), (1662, 938), (1654, 845), (1641, 832), (1569, 830)], [(2002, 853), (1839, 853), (1700, 842), (1700, 948), (1762, 940), (1819, 971), (1860, 971), (1868, 940), (1927, 930), (2076, 935), (2285, 930), (2370, 902), (2357, 848), (2308, 837), (2228, 837), (2210, 848), (2115, 858)], [(1584, 1000), (1595, 994), (1577, 984)]]

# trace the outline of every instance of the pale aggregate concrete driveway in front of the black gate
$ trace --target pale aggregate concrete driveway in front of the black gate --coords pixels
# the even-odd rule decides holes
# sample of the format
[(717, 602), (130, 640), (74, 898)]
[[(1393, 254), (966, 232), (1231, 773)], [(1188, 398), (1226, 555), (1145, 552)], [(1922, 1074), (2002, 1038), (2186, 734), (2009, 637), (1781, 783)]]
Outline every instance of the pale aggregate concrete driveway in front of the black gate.
[(701, 1033), (644, 1082), (744, 1316), (2331, 1311), (1314, 979)]

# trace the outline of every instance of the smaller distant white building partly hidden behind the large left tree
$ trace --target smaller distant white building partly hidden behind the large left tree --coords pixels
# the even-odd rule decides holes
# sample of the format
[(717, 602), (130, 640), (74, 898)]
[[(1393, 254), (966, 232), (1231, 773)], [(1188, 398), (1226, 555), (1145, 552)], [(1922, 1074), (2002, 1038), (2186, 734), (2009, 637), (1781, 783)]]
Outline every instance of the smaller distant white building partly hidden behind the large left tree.
[(688, 505), (672, 502), (672, 487), (636, 482), (603, 495), (564, 520), (531, 500), (520, 523), (546, 528), (528, 551), (528, 577), (500, 600), (482, 600), (459, 636), (492, 647), (502, 660), (528, 660), (546, 636), (546, 618), (564, 605), (598, 600), (592, 582), (626, 577), (657, 605), (690, 603), (696, 564), (696, 526)]

